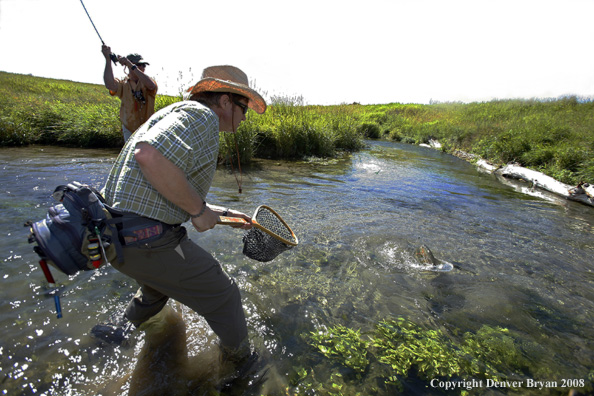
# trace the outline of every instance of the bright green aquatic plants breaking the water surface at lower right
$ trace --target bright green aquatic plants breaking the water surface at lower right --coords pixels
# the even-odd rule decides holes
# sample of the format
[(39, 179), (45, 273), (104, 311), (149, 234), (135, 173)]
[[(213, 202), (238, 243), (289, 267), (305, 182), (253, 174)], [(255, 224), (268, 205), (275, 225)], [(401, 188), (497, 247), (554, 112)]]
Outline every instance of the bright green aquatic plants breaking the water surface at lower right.
[(464, 333), (460, 342), (442, 330), (426, 329), (404, 318), (382, 320), (371, 340), (343, 325), (311, 333), (308, 340), (325, 357), (356, 371), (357, 379), (369, 371), (372, 362), (385, 365), (380, 374), (383, 381), (401, 389), (408, 378), (502, 381), (538, 370), (524, 354), (523, 347), (531, 346), (521, 344), (508, 329), (487, 325), (476, 333)]

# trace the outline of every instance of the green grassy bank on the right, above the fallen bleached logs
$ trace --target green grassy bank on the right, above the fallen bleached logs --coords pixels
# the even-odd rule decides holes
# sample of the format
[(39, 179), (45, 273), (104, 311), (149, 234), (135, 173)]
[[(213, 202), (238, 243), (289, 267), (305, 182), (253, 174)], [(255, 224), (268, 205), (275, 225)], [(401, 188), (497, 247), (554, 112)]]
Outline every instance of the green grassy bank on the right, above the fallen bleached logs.
[(436, 139), (446, 152), (519, 163), (568, 184), (594, 182), (592, 100), (393, 104), (369, 106), (362, 117), (376, 122), (389, 139), (417, 144)]

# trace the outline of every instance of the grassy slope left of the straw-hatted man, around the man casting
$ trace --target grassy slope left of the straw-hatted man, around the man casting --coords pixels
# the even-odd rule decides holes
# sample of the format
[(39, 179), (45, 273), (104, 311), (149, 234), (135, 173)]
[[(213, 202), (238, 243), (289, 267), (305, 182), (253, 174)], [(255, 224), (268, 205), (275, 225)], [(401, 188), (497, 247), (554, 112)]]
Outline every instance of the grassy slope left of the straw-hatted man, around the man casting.
[[(157, 95), (155, 107), (177, 100)], [(120, 147), (119, 108), (102, 85), (0, 72), (0, 145)]]

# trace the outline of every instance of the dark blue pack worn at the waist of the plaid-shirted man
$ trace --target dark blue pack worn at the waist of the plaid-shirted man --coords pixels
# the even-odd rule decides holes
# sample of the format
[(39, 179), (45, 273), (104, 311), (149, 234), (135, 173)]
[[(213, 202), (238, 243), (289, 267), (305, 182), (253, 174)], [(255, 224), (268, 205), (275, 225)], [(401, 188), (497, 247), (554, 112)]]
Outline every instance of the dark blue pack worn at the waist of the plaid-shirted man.
[(52, 196), (60, 203), (48, 209), (46, 218), (25, 224), (31, 231), (29, 243), (37, 244), (33, 250), (50, 283), (55, 282), (45, 263), (74, 275), (116, 259), (123, 262), (114, 219), (121, 214), (96, 189), (72, 182), (56, 187)]

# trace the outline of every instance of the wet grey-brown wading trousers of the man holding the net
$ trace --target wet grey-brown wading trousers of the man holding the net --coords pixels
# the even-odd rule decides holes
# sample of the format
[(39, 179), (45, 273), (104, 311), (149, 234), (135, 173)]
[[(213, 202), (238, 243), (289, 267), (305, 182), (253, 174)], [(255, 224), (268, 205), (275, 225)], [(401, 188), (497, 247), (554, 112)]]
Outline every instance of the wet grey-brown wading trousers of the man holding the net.
[(210, 253), (187, 238), (183, 227), (151, 244), (125, 247), (124, 264), (114, 267), (142, 285), (142, 297), (128, 307), (130, 320), (156, 314), (166, 302), (161, 296), (168, 296), (203, 316), (224, 347), (237, 349), (245, 342), (239, 288)]

